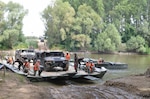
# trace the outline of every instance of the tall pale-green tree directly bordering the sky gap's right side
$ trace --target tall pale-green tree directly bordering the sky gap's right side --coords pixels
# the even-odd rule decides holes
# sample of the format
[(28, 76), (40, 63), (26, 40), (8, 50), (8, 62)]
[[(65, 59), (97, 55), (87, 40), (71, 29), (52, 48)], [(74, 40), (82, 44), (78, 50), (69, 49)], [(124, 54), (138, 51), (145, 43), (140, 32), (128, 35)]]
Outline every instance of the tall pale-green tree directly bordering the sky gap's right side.
[(42, 13), (48, 44), (70, 46), (70, 29), (74, 22), (75, 11), (68, 2), (56, 1), (54, 7), (48, 6)]

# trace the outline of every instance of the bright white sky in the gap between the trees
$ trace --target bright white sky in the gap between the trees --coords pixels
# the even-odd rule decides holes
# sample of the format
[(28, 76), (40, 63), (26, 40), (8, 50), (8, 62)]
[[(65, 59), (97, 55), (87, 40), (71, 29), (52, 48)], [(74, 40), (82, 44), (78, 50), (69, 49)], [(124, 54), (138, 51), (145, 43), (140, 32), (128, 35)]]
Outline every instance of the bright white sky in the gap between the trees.
[(41, 20), (40, 13), (48, 6), (52, 5), (55, 0), (0, 0), (5, 3), (9, 1), (19, 3), (28, 10), (28, 15), (23, 19), (23, 34), (25, 36), (40, 37), (44, 35), (44, 24)]

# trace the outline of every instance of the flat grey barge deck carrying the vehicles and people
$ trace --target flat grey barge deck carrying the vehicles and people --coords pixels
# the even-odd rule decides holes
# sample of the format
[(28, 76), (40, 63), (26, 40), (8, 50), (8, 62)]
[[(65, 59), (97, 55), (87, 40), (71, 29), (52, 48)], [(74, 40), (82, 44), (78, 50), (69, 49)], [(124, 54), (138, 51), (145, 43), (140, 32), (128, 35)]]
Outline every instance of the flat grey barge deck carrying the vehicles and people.
[(80, 69), (78, 70), (78, 72), (75, 72), (74, 67), (69, 66), (68, 71), (52, 71), (52, 72), (43, 71), (40, 76), (33, 76), (32, 69), (29, 71), (29, 75), (28, 75), (27, 73), (24, 73), (22, 70), (18, 70), (18, 68), (15, 65), (1, 63), (0, 67), (1, 68), (5, 67), (6, 69), (13, 71), (14, 73), (24, 75), (30, 81), (46, 81), (50, 79), (66, 79), (66, 78), (87, 78), (87, 76), (102, 78), (107, 72), (106, 69), (100, 70), (98, 72), (93, 72), (93, 73), (87, 73), (84, 70), (80, 70)]

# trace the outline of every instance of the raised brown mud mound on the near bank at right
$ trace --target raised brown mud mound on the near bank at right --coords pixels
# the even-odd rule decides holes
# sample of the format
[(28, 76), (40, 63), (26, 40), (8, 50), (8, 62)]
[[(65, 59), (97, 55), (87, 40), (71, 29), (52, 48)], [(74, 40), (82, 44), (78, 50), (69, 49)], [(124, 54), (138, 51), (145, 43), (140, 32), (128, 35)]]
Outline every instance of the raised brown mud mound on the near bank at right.
[(145, 98), (150, 97), (150, 78), (143, 74), (109, 80), (104, 85), (120, 88)]

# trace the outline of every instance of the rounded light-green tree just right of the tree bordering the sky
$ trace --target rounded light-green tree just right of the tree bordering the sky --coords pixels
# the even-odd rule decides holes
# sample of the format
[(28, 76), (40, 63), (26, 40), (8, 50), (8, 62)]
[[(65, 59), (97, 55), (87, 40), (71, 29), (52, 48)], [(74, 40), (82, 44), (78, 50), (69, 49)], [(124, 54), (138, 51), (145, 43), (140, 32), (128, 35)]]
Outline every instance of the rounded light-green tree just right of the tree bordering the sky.
[(103, 20), (101, 17), (86, 4), (80, 5), (76, 15), (76, 24), (74, 25), (75, 34), (89, 35), (93, 47), (97, 34), (103, 28)]

